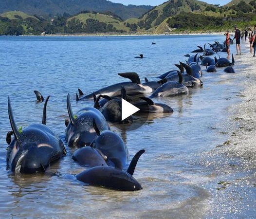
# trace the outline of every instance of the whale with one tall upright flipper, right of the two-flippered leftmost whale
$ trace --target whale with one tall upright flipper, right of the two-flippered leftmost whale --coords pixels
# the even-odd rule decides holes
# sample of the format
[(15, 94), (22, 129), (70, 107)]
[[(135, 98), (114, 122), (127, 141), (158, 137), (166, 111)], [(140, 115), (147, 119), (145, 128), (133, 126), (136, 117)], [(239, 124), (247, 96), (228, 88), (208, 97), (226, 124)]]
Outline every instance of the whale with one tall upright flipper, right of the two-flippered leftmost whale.
[(70, 118), (70, 121), (66, 123), (66, 141), (68, 146), (83, 147), (91, 144), (92, 140), (96, 136), (96, 132), (92, 124), (93, 119), (95, 119), (95, 122), (101, 131), (110, 130), (104, 116), (95, 108), (85, 107), (74, 115), (71, 108), (69, 94), (67, 96), (67, 109)]

